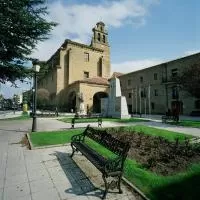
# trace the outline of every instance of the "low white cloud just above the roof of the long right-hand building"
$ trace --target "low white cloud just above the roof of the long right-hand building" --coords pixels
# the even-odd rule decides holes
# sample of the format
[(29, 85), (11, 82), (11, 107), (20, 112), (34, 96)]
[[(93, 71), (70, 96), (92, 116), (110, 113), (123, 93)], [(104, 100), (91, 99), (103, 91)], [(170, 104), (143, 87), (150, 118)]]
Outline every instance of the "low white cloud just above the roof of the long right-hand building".
[(147, 67), (151, 67), (164, 62), (161, 59), (144, 59), (144, 60), (132, 60), (122, 63), (112, 64), (113, 72), (129, 73), (133, 71), (138, 71)]

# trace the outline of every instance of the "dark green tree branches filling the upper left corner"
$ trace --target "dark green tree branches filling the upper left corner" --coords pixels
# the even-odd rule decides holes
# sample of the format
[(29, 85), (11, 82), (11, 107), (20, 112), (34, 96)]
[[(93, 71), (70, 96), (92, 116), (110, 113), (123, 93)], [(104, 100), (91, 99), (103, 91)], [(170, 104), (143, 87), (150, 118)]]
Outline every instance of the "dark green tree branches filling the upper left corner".
[(0, 0), (0, 82), (27, 77), (23, 66), (56, 23), (48, 22), (45, 0)]

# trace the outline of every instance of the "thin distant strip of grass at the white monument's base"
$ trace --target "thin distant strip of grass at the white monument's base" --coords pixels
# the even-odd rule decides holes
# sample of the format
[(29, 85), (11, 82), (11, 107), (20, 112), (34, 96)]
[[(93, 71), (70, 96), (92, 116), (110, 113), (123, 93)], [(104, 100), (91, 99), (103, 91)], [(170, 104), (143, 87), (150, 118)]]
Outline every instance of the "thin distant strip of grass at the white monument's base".
[[(58, 119), (59, 121), (71, 123), (72, 118), (62, 118)], [(103, 121), (110, 121), (110, 122), (122, 122), (122, 123), (129, 123), (129, 122), (147, 122), (149, 120), (145, 119), (139, 119), (139, 118), (130, 118), (130, 119), (118, 119), (118, 118), (102, 118)], [(91, 119), (84, 119), (80, 118), (77, 120), (78, 123), (86, 123), (86, 122), (97, 122), (97, 118), (91, 118)]]

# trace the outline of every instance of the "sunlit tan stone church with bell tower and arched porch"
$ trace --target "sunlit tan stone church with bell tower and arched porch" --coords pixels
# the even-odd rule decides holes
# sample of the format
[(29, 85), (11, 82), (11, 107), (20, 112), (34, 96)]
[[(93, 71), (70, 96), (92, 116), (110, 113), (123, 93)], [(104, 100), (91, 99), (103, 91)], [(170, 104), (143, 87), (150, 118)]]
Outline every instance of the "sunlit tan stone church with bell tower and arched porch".
[(48, 73), (38, 82), (39, 88), (50, 93), (50, 101), (66, 110), (85, 109), (100, 112), (100, 98), (107, 97), (110, 77), (110, 47), (105, 24), (92, 29), (90, 45), (69, 39), (46, 62)]

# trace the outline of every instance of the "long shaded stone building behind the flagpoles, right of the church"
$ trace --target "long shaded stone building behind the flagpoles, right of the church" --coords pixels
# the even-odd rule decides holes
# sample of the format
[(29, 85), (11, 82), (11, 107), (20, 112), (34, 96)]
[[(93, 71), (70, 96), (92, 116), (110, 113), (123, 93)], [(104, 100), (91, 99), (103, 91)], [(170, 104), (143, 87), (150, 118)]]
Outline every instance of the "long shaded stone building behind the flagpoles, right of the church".
[(173, 81), (185, 68), (200, 63), (200, 53), (120, 76), (122, 94), (130, 113), (164, 114), (178, 108), (180, 114), (200, 113), (200, 100)]

